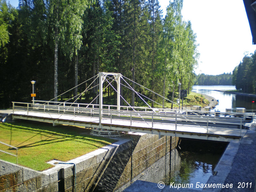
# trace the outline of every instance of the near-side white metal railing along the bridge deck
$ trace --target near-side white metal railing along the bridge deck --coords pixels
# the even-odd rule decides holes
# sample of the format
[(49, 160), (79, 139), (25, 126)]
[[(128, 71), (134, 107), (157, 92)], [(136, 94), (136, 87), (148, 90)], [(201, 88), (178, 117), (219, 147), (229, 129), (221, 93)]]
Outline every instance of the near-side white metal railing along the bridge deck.
[[(44, 102), (44, 101), (41, 101)], [(36, 102), (35, 104), (31, 103), (22, 103), (22, 102), (12, 102), (13, 103), (13, 112), (14, 110), (25, 110), (28, 112), (44, 112), (44, 113), (54, 113), (54, 114), (67, 114), (67, 115), (77, 115), (77, 116), (90, 116), (98, 118), (99, 109), (94, 108), (96, 104), (92, 104), (92, 108), (82, 107), (87, 106), (88, 104), (77, 103), (77, 106), (71, 105), (53, 105), (54, 102), (47, 102), (46, 104), (40, 104)], [(45, 103), (45, 102), (44, 102)], [(50, 104), (51, 103), (51, 104)], [(59, 102), (61, 103), (61, 102)], [(72, 104), (72, 103), (68, 103)], [(162, 124), (184, 124), (188, 122), (191, 124), (202, 124), (204, 123), (207, 126), (215, 126), (216, 124), (226, 124), (227, 127), (240, 128), (244, 125), (245, 115), (240, 114), (240, 117), (223, 117), (223, 116), (205, 116), (205, 115), (191, 115), (188, 113), (178, 114), (174, 112), (152, 112), (152, 111), (130, 111), (130, 110), (116, 110), (111, 109), (111, 105), (106, 105), (106, 108), (102, 110), (102, 115), (104, 118), (110, 118), (112, 120), (125, 119), (131, 121), (131, 125), (134, 121), (145, 121), (150, 122), (153, 127), (156, 123)], [(114, 106), (116, 107), (116, 106)], [(187, 111), (188, 112), (188, 111)], [(220, 114), (225, 114), (221, 113)], [(220, 115), (219, 114), (219, 115)], [(237, 113), (230, 113), (237, 115)]]

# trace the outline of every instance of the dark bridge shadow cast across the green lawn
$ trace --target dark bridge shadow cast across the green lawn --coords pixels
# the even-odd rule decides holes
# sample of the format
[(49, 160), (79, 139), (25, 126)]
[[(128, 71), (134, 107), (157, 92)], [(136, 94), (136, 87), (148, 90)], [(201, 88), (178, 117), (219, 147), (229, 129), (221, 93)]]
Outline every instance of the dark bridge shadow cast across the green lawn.
[[(99, 147), (98, 145), (92, 144), (93, 143), (97, 143), (99, 145), (108, 145), (109, 142), (113, 142), (114, 140), (112, 139), (108, 139), (108, 138), (103, 138), (103, 137), (96, 137), (96, 136), (91, 136), (91, 135), (81, 135), (78, 132), (82, 132), (85, 129), (84, 128), (79, 128), (79, 127), (75, 127), (75, 126), (69, 126), (69, 125), (58, 125), (53, 127), (52, 124), (49, 123), (41, 123), (41, 122), (31, 122), (31, 121), (19, 121), (19, 122), (13, 122), (13, 123), (9, 123), (9, 124), (3, 124), (9, 128), (6, 128), (5, 126), (1, 126), (1, 128), (3, 129), (9, 129), (11, 131), (14, 131), (14, 129), (18, 129), (17, 131), (20, 132), (31, 132), (31, 133), (35, 133), (34, 136), (30, 137), (29, 139), (21, 142), (20, 144), (16, 145), (16, 147), (18, 148), (29, 148), (29, 147), (35, 147), (35, 146), (39, 146), (39, 145), (46, 145), (46, 144), (50, 144), (50, 143), (58, 143), (58, 142), (63, 142), (65, 140), (76, 140), (77, 142), (82, 142), (84, 144), (88, 144), (88, 145), (92, 145), (95, 147)], [(30, 128), (33, 127), (33, 128)], [(72, 130), (71, 130), (72, 129)], [(36, 135), (42, 135), (47, 137), (47, 139), (41, 140), (41, 141), (37, 141), (34, 143), (30, 143), (28, 145), (23, 145), (20, 146), (22, 143), (31, 140), (32, 138), (34, 138)], [(50, 135), (50, 136), (49, 136)], [(12, 133), (11, 133), (12, 136)], [(56, 136), (56, 137), (54, 137)], [(51, 140), (49, 140), (49, 138), (52, 138)], [(79, 141), (78, 141), (79, 139)], [(11, 137), (12, 140), (12, 137)], [(59, 141), (56, 141), (59, 140)], [(84, 140), (84, 141), (82, 141)], [(47, 141), (47, 143), (42, 143)], [(11, 141), (10, 141), (11, 142)], [(37, 145), (36, 145), (37, 144)]]

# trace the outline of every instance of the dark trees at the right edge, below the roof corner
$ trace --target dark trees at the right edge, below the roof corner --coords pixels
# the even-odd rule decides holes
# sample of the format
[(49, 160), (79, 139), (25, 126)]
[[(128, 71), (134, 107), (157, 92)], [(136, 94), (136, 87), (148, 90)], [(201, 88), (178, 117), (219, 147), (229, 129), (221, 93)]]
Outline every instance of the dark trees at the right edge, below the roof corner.
[(256, 51), (245, 55), (242, 62), (233, 70), (232, 84), (236, 90), (256, 94)]

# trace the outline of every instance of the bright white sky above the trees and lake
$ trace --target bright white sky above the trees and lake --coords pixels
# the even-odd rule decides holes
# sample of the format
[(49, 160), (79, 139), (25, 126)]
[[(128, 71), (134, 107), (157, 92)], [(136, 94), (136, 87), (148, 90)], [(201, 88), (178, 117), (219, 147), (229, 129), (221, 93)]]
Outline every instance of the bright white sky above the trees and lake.
[[(10, 3), (17, 7), (19, 1)], [(159, 3), (165, 16), (169, 1)], [(242, 0), (183, 0), (182, 15), (197, 36), (197, 75), (232, 73), (245, 54), (256, 50)]]

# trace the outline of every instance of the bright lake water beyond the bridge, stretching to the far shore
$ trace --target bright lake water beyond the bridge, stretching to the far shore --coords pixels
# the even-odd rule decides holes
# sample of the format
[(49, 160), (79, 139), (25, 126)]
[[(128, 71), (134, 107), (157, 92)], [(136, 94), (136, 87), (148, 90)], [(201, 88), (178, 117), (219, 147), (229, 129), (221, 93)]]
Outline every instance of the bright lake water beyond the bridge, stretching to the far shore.
[(214, 90), (234, 90), (235, 86), (229, 85), (194, 85), (193, 92), (210, 95), (219, 100), (219, 104), (214, 110), (220, 110), (225, 112), (226, 108), (246, 108), (247, 110), (255, 110), (256, 104), (252, 103), (252, 100), (256, 100), (255, 97), (249, 97), (244, 95), (236, 95), (231, 93), (224, 93)]

